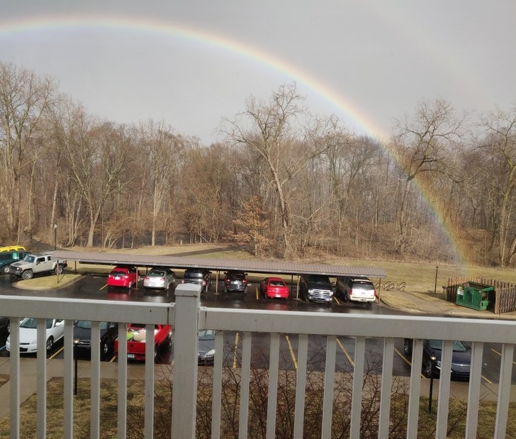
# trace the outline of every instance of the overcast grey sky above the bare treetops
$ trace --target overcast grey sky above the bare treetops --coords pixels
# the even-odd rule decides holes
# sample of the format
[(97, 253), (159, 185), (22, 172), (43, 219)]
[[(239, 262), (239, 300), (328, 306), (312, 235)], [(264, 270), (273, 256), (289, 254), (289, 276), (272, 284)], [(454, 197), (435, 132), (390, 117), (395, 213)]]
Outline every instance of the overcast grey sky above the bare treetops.
[(369, 135), (422, 99), (512, 109), (515, 43), (515, 0), (0, 0), (1, 62), (52, 75), (91, 114), (205, 144), (291, 82)]

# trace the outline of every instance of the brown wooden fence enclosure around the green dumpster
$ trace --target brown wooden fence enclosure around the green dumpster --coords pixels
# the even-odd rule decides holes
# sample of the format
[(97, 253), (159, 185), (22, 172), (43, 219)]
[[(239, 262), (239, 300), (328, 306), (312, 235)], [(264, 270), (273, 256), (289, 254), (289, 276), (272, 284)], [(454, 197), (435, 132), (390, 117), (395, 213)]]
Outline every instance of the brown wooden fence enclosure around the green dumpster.
[(491, 309), (495, 314), (510, 313), (516, 311), (516, 285), (485, 277), (455, 277), (449, 278), (448, 284), (443, 287), (444, 297), (447, 301), (456, 303), (457, 287), (465, 282), (476, 282), (489, 285), (495, 291), (488, 296), (489, 301), (494, 302)]

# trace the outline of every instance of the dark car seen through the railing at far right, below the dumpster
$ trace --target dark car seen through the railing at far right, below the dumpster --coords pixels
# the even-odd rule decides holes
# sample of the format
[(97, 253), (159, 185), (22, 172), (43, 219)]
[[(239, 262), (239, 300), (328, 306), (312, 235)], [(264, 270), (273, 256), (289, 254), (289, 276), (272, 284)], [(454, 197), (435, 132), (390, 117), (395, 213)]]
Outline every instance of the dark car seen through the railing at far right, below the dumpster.
[[(403, 351), (405, 355), (412, 355), (413, 340), (405, 338)], [(441, 372), (441, 340), (424, 340), (422, 372), (427, 377), (439, 375)], [(451, 355), (451, 377), (469, 379), (471, 369), (471, 349), (461, 341), (454, 341), (453, 353)]]

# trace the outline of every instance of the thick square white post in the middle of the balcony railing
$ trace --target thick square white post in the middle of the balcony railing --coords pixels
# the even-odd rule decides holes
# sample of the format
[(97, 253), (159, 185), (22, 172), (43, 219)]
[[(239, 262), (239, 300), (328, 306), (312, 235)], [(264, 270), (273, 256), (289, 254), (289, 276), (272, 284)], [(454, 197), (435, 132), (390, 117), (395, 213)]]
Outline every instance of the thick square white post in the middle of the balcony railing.
[(201, 287), (195, 284), (179, 284), (175, 294), (172, 438), (194, 439)]

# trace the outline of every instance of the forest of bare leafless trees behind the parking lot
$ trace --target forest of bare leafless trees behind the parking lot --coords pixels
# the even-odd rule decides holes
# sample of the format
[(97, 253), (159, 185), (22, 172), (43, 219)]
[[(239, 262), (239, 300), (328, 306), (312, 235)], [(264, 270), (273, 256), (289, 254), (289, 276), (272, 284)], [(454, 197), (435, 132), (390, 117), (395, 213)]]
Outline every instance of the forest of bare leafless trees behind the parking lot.
[(165, 121), (103, 120), (56, 79), (0, 63), (0, 242), (514, 267), (516, 107), (408, 111), (371, 138), (282, 84), (202, 145)]

